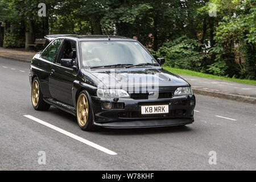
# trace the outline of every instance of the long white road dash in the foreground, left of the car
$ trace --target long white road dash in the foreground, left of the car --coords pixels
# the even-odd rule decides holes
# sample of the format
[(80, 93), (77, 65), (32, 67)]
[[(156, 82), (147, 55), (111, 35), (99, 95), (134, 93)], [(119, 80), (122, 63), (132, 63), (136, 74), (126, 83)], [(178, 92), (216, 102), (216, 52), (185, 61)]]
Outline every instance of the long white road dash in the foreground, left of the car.
[(67, 135), (68, 137), (71, 137), (71, 138), (73, 138), (73, 139), (76, 139), (76, 140), (78, 140), (78, 141), (80, 141), (80, 142), (82, 142), (82, 143), (84, 143), (84, 144), (87, 144), (88, 146), (91, 146), (91, 147), (96, 148), (96, 149), (98, 149), (98, 150), (100, 150), (100, 151), (102, 151), (102, 152), (105, 152), (106, 154), (109, 154), (109, 155), (117, 155), (117, 153), (115, 153), (115, 152), (109, 150), (108, 148), (105, 148), (105, 147), (102, 147), (102, 146), (100, 146), (100, 145), (98, 145), (98, 144), (96, 144), (96, 143), (90, 142), (89, 140), (86, 140), (86, 139), (81, 138), (81, 137), (79, 137), (79, 136), (77, 136), (77, 135), (75, 135), (75, 134), (72, 134), (72, 133), (68, 132), (68, 131), (65, 131), (65, 130), (63, 130), (63, 129), (60, 129), (60, 128), (57, 127), (57, 126), (51, 125), (51, 124), (49, 124), (49, 123), (47, 123), (47, 122), (44, 122), (44, 121), (42, 121), (41, 119), (32, 117), (32, 115), (23, 115), (23, 116), (24, 116), (24, 117), (27, 117), (27, 118), (29, 118), (29, 119), (32, 119), (32, 120), (34, 120), (35, 122), (38, 122), (38, 123), (40, 123), (40, 124), (42, 124), (42, 125), (44, 125), (44, 126), (47, 126), (47, 127), (51, 128), (51, 129), (53, 129), (53, 130), (55, 130), (55, 131), (59, 131), (60, 133), (62, 133), (62, 134), (64, 134), (64, 135)]

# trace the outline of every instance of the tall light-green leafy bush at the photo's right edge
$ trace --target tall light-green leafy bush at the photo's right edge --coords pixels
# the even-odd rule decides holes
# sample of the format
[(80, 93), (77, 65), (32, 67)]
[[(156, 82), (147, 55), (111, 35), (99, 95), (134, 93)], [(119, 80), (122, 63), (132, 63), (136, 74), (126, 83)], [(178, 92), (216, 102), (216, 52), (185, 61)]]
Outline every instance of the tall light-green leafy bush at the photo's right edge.
[(255, 0), (243, 1), (236, 6), (236, 13), (224, 16), (218, 23), (216, 44), (210, 49), (216, 55), (216, 63), (209, 66), (210, 73), (255, 80), (255, 5)]

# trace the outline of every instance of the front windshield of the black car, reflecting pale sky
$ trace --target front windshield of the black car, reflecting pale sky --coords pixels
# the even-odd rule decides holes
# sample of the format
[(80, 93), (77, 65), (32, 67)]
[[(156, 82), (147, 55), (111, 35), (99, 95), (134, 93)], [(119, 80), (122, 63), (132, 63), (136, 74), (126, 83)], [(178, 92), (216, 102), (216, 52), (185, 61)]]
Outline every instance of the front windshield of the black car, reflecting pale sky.
[(83, 68), (157, 64), (141, 44), (134, 41), (81, 42), (81, 52)]

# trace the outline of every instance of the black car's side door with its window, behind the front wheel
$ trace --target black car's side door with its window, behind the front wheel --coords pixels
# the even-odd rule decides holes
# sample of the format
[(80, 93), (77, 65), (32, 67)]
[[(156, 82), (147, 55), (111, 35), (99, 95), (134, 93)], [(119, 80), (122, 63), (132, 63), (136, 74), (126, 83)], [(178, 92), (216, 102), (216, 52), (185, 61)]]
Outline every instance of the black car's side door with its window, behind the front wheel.
[[(64, 67), (60, 64), (61, 59), (72, 59), (72, 67)], [(61, 49), (52, 66), (52, 73), (49, 76), (49, 92), (54, 100), (73, 106), (72, 86), (76, 80), (77, 67), (77, 45), (74, 40), (63, 41)]]

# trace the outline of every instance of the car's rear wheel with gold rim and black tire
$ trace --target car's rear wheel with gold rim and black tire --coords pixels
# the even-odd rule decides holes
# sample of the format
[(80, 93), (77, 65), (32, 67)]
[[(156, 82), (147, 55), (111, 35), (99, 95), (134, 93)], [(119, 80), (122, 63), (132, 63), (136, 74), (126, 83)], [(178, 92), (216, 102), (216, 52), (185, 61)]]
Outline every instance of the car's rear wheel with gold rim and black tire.
[(38, 77), (35, 77), (31, 85), (31, 102), (35, 110), (48, 110), (51, 105), (43, 100), (43, 94), (40, 90), (40, 82)]

